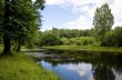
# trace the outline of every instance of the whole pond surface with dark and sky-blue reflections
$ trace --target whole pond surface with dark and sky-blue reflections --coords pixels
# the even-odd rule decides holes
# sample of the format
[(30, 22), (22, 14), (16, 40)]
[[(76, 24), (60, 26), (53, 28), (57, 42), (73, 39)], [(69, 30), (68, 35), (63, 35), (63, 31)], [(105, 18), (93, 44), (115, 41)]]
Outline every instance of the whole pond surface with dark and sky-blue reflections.
[(61, 80), (122, 80), (122, 54), (83, 51), (45, 51), (38, 63)]

